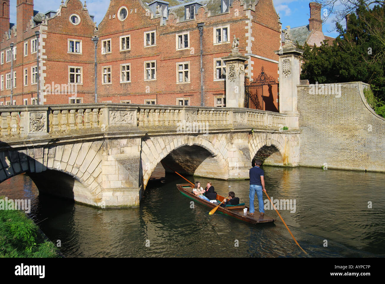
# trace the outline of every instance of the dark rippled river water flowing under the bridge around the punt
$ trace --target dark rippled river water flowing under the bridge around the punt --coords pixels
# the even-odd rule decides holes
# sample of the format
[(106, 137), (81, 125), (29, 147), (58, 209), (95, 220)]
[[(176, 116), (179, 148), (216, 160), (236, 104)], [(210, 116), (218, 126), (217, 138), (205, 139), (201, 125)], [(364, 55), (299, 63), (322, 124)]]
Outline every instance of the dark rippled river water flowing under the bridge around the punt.
[[(270, 198), (295, 200), (295, 212), (286, 208), (280, 214), (310, 257), (385, 256), (385, 174), (263, 169)], [(232, 190), (249, 204), (248, 180), (187, 178), (202, 185), (211, 181), (218, 194)], [(265, 210), (277, 219), (267, 224), (209, 216), (202, 204), (191, 208), (192, 200), (179, 193), (178, 183), (186, 181), (166, 174), (163, 182), (149, 184), (139, 207), (123, 209), (40, 196), (25, 174), (0, 184), (0, 195), (31, 199), (29, 216), (55, 244), (60, 240), (66, 257), (306, 257), (274, 210)]]

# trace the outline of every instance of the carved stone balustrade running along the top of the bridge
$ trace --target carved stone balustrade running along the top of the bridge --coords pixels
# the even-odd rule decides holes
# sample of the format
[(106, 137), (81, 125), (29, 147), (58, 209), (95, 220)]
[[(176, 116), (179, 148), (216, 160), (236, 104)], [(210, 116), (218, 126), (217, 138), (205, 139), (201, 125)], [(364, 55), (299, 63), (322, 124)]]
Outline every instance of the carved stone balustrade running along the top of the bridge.
[[(244, 108), (134, 104), (22, 105), (0, 107), (0, 136), (70, 132), (260, 128), (280, 130), (287, 115)], [(195, 131), (196, 130), (196, 131)]]

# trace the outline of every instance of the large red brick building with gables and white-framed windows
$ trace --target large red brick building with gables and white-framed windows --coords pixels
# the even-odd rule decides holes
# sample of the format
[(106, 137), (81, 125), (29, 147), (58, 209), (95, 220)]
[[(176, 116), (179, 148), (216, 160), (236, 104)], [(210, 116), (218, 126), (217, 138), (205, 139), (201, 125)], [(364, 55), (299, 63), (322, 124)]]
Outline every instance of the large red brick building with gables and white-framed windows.
[[(37, 102), (35, 31), (40, 33), (40, 104), (95, 102), (94, 37), (98, 102), (199, 106), (203, 85), (203, 104), (224, 106), (221, 57), (231, 52), (234, 35), (239, 51), (249, 57), (248, 77), (257, 77), (261, 67), (278, 77), (274, 50), (281, 46), (281, 23), (272, 0), (111, 0), (97, 27), (79, 0), (62, 1), (58, 12), (46, 13), (34, 11), (33, 0), (17, 0), (16, 25), (9, 23), (10, 1), (1, 2), (4, 105), (10, 104), (11, 89), (14, 103)], [(203, 26), (203, 80), (198, 24)], [(272, 92), (277, 107), (277, 91)]]

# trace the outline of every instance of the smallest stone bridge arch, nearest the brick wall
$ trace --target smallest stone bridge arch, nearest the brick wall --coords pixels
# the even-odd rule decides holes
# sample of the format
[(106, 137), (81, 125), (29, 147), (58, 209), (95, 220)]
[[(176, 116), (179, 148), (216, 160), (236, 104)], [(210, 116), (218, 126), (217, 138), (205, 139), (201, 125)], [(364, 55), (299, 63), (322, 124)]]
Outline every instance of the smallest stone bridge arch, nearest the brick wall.
[(258, 154), (258, 158), (264, 162), (268, 156), (275, 155), (277, 164), (288, 164), (287, 141), (285, 134), (260, 132), (249, 135), (248, 140), (250, 159), (253, 160)]

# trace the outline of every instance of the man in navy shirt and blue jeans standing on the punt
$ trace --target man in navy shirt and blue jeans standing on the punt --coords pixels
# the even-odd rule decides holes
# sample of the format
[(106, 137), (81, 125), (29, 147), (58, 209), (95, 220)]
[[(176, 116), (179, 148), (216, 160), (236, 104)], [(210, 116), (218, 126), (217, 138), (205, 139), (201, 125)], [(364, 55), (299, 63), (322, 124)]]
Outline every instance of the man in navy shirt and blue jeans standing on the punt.
[(259, 168), (261, 165), (260, 160), (253, 160), (251, 163), (253, 167), (249, 170), (249, 177), (250, 177), (250, 193), (249, 193), (249, 199), (250, 199), (250, 210), (247, 213), (250, 216), (254, 215), (254, 196), (255, 193), (258, 197), (258, 205), (259, 205), (259, 214), (262, 216), (264, 215), (263, 210), (263, 199), (262, 199), (262, 190), (266, 192), (266, 189), (264, 187), (264, 172), (262, 169)]

